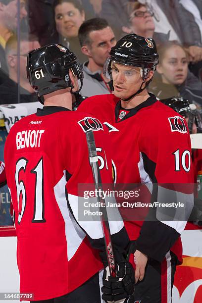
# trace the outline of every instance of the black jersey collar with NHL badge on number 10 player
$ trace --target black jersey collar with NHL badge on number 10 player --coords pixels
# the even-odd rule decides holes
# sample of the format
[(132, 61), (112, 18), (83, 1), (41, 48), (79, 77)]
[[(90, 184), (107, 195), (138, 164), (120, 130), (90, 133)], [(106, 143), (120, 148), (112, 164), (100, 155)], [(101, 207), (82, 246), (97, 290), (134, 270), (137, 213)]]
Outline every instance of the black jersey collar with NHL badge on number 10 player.
[[(125, 120), (125, 119), (127, 119), (127, 118), (129, 118), (129, 117), (132, 117), (132, 116), (134, 116), (141, 108), (150, 106), (150, 105), (152, 105), (153, 103), (155, 103), (155, 102), (157, 101), (157, 100), (156, 100), (156, 97), (155, 97), (153, 94), (149, 94), (149, 95), (150, 95), (150, 97), (149, 97), (146, 101), (142, 102), (141, 104), (137, 105), (137, 106), (134, 107), (134, 108), (127, 109), (127, 110), (121, 107), (121, 101), (119, 100), (119, 101), (117, 102), (116, 106), (115, 106), (115, 121), (116, 121), (117, 123), (119, 123), (119, 122), (121, 122), (121, 121), (123, 121), (123, 120)], [(125, 117), (123, 117), (122, 119), (118, 119), (120, 109), (129, 111), (129, 112), (125, 115)], [(119, 121), (118, 121), (118, 120), (119, 120)]]

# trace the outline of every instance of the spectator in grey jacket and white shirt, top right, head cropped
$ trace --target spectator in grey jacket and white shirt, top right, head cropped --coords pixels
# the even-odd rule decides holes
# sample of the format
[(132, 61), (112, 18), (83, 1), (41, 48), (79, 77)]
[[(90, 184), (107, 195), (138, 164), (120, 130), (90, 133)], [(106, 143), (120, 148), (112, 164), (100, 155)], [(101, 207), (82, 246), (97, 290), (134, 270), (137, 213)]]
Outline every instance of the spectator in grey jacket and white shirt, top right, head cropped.
[(179, 0), (141, 0), (153, 10), (155, 30), (167, 34), (170, 40), (177, 40), (189, 54), (189, 61), (197, 63), (202, 60), (202, 35), (192, 12), (187, 10)]

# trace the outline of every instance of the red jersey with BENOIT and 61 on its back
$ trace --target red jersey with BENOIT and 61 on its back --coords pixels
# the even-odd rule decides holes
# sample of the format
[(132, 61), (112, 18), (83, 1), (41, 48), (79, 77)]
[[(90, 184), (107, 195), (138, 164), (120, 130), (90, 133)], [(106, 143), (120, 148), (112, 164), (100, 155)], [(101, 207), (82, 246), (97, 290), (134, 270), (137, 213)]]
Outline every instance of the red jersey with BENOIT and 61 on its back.
[[(68, 294), (102, 268), (97, 249), (103, 242), (101, 221), (78, 220), (78, 184), (94, 183), (85, 134), (92, 125), (105, 161), (102, 182), (111, 183), (103, 145), (108, 132), (105, 137), (97, 119), (45, 106), (17, 122), (6, 139), (20, 292), (34, 294), (34, 301)], [(129, 239), (121, 217), (109, 223), (112, 236), (118, 234), (125, 247)]]

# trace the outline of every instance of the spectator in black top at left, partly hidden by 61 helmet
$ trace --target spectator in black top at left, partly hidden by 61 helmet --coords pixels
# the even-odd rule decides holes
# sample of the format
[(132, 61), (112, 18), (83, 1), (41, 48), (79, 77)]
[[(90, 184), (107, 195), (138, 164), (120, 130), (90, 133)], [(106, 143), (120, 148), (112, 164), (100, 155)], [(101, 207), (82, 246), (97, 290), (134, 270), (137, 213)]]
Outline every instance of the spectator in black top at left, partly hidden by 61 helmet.
[(9, 78), (0, 85), (0, 104), (18, 103), (18, 72), (20, 103), (38, 101), (34, 90), (27, 80), (27, 54), (40, 48), (36, 37), (22, 35), (20, 41), (20, 66), (17, 64), (17, 38), (11, 36), (5, 46), (5, 56), (8, 65)]

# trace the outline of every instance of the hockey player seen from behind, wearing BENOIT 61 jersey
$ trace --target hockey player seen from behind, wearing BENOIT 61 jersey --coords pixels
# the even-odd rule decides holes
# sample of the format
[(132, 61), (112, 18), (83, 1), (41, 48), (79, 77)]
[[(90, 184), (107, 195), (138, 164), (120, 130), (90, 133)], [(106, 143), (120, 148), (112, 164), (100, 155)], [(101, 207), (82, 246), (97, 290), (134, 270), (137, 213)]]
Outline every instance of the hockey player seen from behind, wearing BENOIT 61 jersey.
[[(102, 182), (111, 183), (107, 134), (104, 136), (97, 119), (71, 110), (72, 94), (79, 91), (77, 78), (82, 82), (83, 77), (74, 53), (57, 44), (32, 50), (27, 74), (44, 107), (11, 128), (4, 150), (17, 234), (20, 293), (33, 294), (23, 297), (30, 302), (100, 303), (101, 221), (78, 219), (84, 199), (78, 197), (78, 185), (88, 188), (93, 183), (83, 126), (96, 129), (96, 145), (105, 159)], [(133, 293), (135, 278), (122, 253), (129, 238), (117, 209), (116, 217), (117, 221), (109, 221), (118, 275), (116, 293), (113, 279), (108, 284), (114, 301), (119, 296), (124, 302)]]

